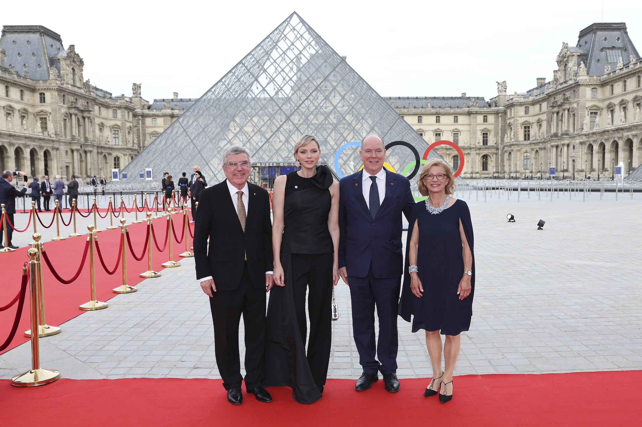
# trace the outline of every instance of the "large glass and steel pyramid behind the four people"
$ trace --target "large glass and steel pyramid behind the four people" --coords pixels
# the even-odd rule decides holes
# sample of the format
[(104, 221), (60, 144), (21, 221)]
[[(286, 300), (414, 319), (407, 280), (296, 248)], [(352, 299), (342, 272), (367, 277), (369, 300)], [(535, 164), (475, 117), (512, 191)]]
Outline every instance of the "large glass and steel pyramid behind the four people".
[[(200, 165), (208, 183), (214, 184), (225, 179), (221, 152), (229, 145), (242, 145), (252, 152), (250, 180), (257, 182), (261, 166), (293, 165), (294, 144), (306, 133), (317, 136), (320, 163), (329, 165), (337, 177), (361, 166), (354, 141), (369, 133), (382, 136), (386, 144), (406, 141), (420, 155), (428, 147), (295, 12), (123, 172), (133, 177), (153, 168), (160, 179), (161, 172), (178, 177)], [(430, 157), (440, 156), (432, 150)], [(400, 145), (388, 150), (386, 166), (401, 173), (414, 161), (411, 150)]]

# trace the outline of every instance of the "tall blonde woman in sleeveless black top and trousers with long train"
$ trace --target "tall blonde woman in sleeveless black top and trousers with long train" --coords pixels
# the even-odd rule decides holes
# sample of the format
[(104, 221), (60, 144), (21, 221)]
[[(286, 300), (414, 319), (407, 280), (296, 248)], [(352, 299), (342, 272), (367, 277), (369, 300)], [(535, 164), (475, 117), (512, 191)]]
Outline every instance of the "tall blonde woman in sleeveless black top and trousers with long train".
[[(265, 385), (292, 388), (299, 403), (321, 398), (332, 341), (332, 287), (339, 280), (339, 184), (318, 166), (317, 138), (294, 148), (298, 172), (274, 182), (274, 284), (266, 317)], [(310, 335), (306, 355), (306, 291)]]

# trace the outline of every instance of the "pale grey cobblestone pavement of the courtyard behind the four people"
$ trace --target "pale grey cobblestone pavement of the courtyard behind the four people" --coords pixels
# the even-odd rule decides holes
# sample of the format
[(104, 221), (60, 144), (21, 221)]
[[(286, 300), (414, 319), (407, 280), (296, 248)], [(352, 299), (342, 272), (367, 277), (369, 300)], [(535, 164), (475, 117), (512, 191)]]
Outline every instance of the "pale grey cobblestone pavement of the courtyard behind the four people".
[[(473, 216), (477, 284), (456, 375), (642, 369), (642, 196), (460, 197)], [(219, 378), (209, 304), (193, 259), (181, 263), (42, 339), (42, 366), (66, 378)], [(336, 294), (329, 376), (356, 378), (349, 289)], [(0, 355), (0, 378), (28, 369), (29, 345)], [(401, 318), (397, 360), (401, 378), (431, 376), (423, 334)]]

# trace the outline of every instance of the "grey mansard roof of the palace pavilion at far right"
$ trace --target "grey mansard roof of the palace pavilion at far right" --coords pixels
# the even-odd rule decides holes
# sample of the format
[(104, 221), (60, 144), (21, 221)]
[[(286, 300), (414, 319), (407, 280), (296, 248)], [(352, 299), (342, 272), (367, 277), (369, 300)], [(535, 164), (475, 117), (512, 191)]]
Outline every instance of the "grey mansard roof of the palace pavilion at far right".
[(630, 63), (631, 55), (639, 58), (625, 22), (591, 24), (580, 31), (575, 49), (569, 48), (569, 51), (580, 54), (577, 65), (583, 61), (589, 76), (602, 76), (604, 67), (611, 65), (615, 68), (620, 58), (624, 65)]

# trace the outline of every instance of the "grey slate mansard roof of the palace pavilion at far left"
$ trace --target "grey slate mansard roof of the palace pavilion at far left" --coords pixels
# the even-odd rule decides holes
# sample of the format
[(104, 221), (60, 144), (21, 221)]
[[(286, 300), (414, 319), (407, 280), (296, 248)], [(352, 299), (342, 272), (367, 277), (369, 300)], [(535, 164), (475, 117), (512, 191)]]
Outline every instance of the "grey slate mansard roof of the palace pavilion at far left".
[(21, 76), (28, 71), (32, 80), (48, 80), (51, 55), (65, 50), (60, 35), (41, 25), (3, 26), (0, 49), (6, 52), (5, 67), (13, 65)]

